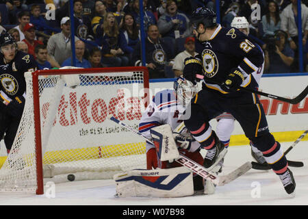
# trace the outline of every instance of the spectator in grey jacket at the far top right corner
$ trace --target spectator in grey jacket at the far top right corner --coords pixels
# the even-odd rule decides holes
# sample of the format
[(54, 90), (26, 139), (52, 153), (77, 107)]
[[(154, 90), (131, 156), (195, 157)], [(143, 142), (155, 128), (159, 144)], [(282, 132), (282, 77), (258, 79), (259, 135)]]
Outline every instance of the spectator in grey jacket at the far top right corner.
[[(303, 29), (303, 45), (306, 44), (308, 36), (308, 8), (301, 3), (302, 11), (302, 29)], [(297, 0), (292, 0), (290, 5), (281, 13), (281, 29), (287, 32), (290, 37), (289, 40), (293, 40), (296, 44), (298, 42), (298, 28), (297, 28)]]

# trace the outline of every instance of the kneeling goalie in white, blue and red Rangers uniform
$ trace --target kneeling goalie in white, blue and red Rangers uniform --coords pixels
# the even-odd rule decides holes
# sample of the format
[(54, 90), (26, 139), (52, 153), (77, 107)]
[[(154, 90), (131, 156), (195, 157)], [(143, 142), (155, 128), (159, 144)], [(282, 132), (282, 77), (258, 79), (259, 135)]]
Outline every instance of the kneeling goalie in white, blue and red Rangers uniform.
[[(201, 83), (193, 85), (179, 77), (175, 81), (175, 90), (155, 94), (139, 124), (142, 136), (153, 140), (152, 143), (146, 142), (147, 170), (130, 170), (115, 175), (117, 196), (179, 197), (214, 193), (211, 181), (205, 181), (174, 162), (181, 153), (203, 165), (200, 144), (183, 125), (190, 100), (201, 86)], [(223, 159), (211, 172), (221, 172), (222, 162)]]

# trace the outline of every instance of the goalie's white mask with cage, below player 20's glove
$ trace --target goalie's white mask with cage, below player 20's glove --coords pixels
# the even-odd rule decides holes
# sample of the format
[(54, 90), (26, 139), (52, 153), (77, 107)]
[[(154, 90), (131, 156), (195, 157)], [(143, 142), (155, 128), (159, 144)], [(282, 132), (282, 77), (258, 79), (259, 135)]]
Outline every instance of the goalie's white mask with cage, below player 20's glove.
[(173, 88), (175, 88), (177, 100), (181, 103), (181, 105), (183, 105), (183, 107), (187, 107), (194, 95), (201, 90), (201, 84), (202, 82), (198, 82), (194, 85), (191, 81), (188, 81), (183, 77), (177, 78)]

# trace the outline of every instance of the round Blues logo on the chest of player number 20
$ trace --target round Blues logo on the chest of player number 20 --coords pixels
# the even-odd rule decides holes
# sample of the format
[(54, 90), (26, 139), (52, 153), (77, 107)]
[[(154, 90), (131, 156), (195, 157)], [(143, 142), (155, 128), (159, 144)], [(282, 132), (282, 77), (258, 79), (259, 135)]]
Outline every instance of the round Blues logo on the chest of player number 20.
[(210, 49), (205, 49), (202, 52), (203, 71), (206, 77), (214, 77), (218, 72), (218, 59), (216, 54)]

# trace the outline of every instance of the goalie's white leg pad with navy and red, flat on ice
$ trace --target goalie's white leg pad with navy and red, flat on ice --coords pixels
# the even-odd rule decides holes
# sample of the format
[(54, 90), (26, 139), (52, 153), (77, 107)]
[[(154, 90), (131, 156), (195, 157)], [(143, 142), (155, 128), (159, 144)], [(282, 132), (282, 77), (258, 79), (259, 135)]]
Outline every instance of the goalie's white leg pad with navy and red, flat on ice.
[(185, 167), (129, 170), (114, 175), (119, 197), (183, 197), (194, 194), (192, 172)]

